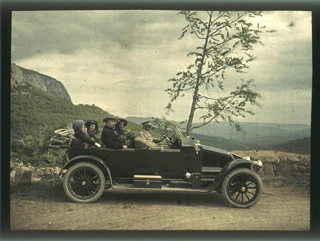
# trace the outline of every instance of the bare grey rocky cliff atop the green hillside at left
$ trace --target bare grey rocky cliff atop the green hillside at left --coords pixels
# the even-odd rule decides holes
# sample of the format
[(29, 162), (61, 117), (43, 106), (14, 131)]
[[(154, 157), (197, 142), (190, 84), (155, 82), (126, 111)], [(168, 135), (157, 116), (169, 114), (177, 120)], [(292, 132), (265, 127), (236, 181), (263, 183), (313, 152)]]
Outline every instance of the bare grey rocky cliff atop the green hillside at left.
[(11, 87), (21, 84), (30, 84), (36, 89), (52, 93), (57, 97), (72, 103), (70, 95), (60, 81), (11, 63)]

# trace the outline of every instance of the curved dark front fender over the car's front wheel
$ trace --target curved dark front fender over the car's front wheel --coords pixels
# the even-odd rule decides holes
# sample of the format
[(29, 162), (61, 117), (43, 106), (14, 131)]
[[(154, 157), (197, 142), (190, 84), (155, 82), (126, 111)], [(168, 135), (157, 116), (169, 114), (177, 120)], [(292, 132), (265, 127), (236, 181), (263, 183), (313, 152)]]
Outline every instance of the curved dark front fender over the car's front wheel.
[(223, 181), (225, 176), (231, 172), (232, 170), (235, 170), (237, 168), (248, 168), (250, 169), (251, 165), (258, 166), (260, 168), (263, 168), (263, 165), (259, 164), (257, 161), (251, 161), (247, 159), (236, 159), (234, 161), (231, 161), (227, 163), (219, 172), (219, 174), (216, 176), (215, 180), (212, 182), (211, 185), (209, 185), (206, 188), (201, 189), (201, 192), (211, 192), (219, 186), (219, 184)]

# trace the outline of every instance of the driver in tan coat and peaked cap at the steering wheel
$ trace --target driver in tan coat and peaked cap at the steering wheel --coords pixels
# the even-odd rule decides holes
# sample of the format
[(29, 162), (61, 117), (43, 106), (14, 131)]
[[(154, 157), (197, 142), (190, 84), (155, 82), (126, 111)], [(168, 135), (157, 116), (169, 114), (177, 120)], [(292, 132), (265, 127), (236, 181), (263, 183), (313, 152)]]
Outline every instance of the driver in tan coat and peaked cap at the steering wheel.
[(170, 149), (167, 145), (160, 146), (156, 143), (159, 143), (159, 138), (154, 138), (149, 133), (151, 129), (151, 121), (146, 121), (141, 123), (142, 129), (139, 132), (138, 136), (134, 139), (136, 149)]

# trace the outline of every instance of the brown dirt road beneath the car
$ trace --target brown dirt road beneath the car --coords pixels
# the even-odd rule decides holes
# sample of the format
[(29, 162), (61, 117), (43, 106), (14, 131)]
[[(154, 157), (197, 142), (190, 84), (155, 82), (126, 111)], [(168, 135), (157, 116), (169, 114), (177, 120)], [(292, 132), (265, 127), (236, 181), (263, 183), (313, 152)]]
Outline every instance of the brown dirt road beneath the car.
[(307, 184), (264, 180), (250, 209), (233, 208), (216, 192), (153, 190), (106, 190), (95, 203), (78, 204), (62, 187), (33, 183), (11, 191), (11, 229), (309, 230), (309, 196)]

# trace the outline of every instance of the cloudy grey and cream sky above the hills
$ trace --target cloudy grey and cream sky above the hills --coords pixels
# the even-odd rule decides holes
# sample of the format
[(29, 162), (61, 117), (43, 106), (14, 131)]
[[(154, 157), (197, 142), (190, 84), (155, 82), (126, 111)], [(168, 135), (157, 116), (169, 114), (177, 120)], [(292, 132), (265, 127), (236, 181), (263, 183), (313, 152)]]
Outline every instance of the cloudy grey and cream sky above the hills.
[[(95, 104), (111, 114), (164, 117), (168, 79), (194, 62), (194, 35), (178, 39), (186, 25), (178, 11), (20, 11), (12, 12), (12, 62), (64, 84), (74, 104)], [(206, 17), (206, 13), (198, 12)], [(253, 79), (259, 92), (256, 113), (245, 122), (311, 121), (311, 12), (262, 12), (253, 24), (276, 29), (255, 45), (256, 59), (245, 74), (228, 71), (225, 91)], [(212, 90), (211, 96), (225, 92)], [(191, 92), (173, 102), (177, 121), (188, 118)], [(198, 122), (201, 113), (196, 113)]]

